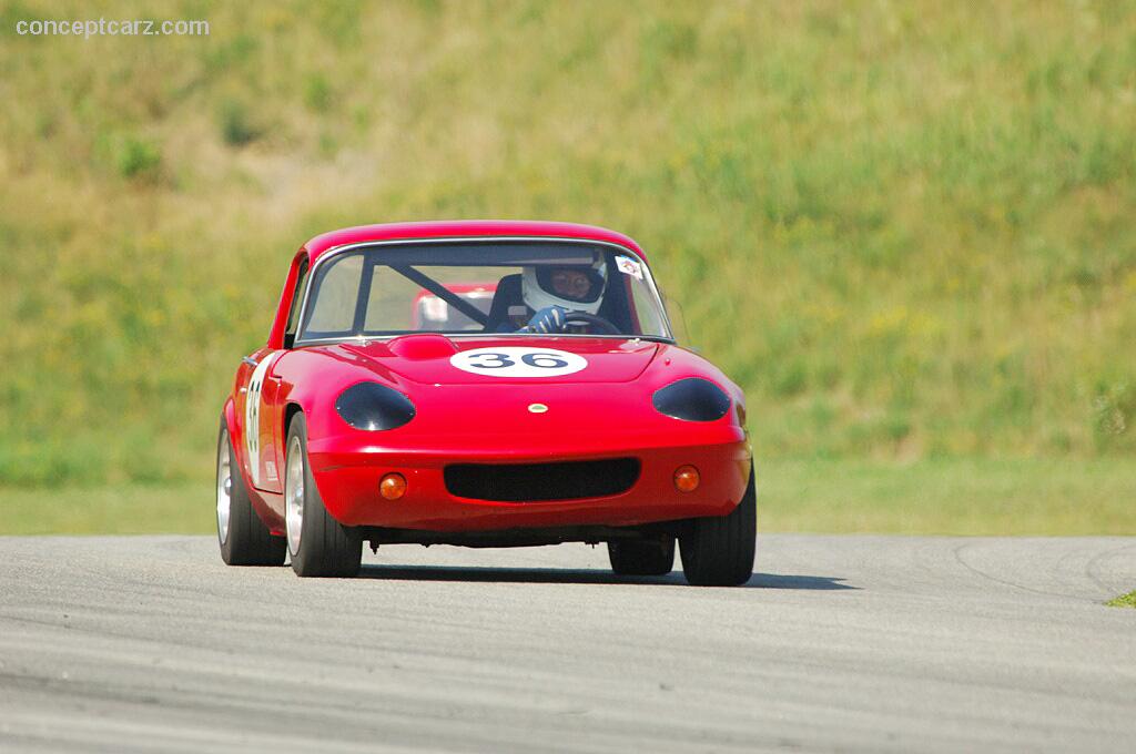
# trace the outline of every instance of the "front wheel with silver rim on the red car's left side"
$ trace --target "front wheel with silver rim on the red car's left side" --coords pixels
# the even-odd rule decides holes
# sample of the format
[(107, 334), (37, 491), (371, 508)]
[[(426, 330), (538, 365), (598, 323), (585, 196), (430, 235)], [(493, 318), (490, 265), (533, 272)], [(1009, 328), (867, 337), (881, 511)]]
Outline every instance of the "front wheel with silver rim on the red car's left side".
[[(292, 419), (287, 432), (284, 459), (284, 505), (289, 536), (285, 537), (292, 555), (292, 570), (298, 576), (350, 578), (359, 573), (362, 562), (362, 539), (351, 527), (343, 526), (327, 512), (319, 496), (316, 480), (308, 463), (308, 425), (303, 414)], [(294, 469), (293, 463), (302, 466)], [(302, 505), (300, 516), (292, 516), (293, 472), (303, 479), (299, 493)], [(299, 542), (293, 538), (293, 527), (299, 523)]]

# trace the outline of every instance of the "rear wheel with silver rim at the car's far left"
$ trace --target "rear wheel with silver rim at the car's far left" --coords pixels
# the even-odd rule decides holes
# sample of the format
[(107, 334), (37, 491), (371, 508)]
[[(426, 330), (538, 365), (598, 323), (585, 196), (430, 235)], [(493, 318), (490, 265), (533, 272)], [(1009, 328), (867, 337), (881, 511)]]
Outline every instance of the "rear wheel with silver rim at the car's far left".
[(217, 436), (217, 542), (228, 566), (284, 564), (284, 537), (273, 536), (252, 508), (224, 417)]

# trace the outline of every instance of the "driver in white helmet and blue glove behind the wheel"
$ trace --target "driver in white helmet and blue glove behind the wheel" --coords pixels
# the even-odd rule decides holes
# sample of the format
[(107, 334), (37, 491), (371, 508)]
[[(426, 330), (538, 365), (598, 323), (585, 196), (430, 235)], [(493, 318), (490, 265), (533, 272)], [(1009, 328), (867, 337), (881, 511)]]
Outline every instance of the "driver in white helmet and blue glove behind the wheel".
[(607, 265), (548, 265), (524, 268), (520, 283), (525, 305), (535, 311), (520, 333), (563, 332), (568, 315), (595, 315), (608, 282)]

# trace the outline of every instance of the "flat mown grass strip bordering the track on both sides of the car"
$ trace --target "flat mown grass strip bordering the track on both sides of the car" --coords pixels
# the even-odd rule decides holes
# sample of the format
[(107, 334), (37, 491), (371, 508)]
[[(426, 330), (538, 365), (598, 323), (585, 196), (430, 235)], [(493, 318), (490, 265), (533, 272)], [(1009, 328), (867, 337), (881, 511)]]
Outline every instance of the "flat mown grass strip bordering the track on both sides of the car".
[[(758, 460), (761, 531), (1136, 535), (1136, 462)], [(0, 489), (5, 534), (206, 534), (208, 484)]]

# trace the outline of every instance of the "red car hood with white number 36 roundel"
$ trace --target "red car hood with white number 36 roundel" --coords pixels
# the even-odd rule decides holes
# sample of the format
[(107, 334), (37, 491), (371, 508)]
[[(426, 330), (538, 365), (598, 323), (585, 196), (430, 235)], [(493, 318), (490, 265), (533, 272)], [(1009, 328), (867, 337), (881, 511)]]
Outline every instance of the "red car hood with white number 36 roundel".
[[(438, 334), (403, 335), (390, 341), (364, 343), (339, 343), (317, 346), (327, 355), (349, 360), (385, 375), (393, 372), (404, 379), (431, 385), (477, 385), (477, 384), (554, 384), (554, 383), (626, 383), (634, 380), (650, 366), (659, 351), (659, 344), (637, 338), (617, 340), (598, 337), (456, 337)], [(485, 368), (459, 368), (458, 363), (470, 363), (470, 351), (501, 353), (475, 361)], [(565, 368), (516, 369), (513, 365), (525, 352), (537, 355), (536, 365), (558, 365), (556, 354), (568, 353), (582, 361), (570, 360)], [(541, 359), (540, 354), (549, 354)], [(532, 359), (532, 357), (529, 357)], [(510, 368), (500, 369), (508, 362)], [(527, 372), (527, 374), (518, 374)]]

